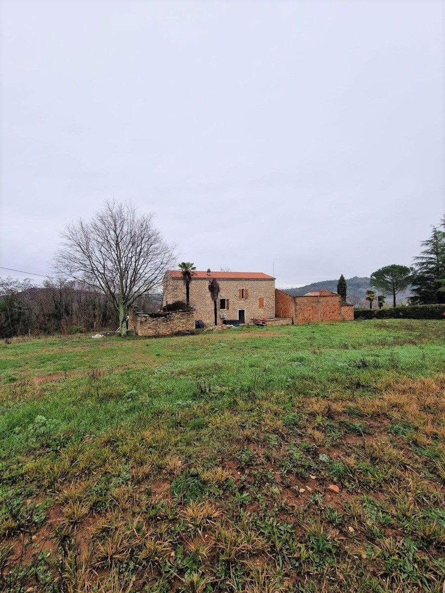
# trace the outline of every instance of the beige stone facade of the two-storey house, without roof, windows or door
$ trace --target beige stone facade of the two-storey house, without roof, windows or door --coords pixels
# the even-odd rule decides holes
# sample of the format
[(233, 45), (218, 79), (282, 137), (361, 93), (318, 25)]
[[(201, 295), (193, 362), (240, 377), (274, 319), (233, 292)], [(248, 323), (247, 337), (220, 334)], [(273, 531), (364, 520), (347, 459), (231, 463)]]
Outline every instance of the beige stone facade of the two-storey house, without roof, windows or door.
[[(227, 319), (239, 319), (239, 310), (244, 310), (244, 319), (268, 319), (275, 317), (275, 280), (218, 280), (220, 295), (217, 301), (217, 321), (222, 325), (221, 313)], [(195, 319), (202, 319), (206, 327), (213, 326), (214, 304), (211, 299), (208, 278), (194, 278), (190, 282), (190, 305), (195, 308)], [(239, 298), (239, 289), (244, 289), (244, 298)], [(164, 283), (163, 307), (167, 302), (185, 301), (185, 286), (180, 278), (167, 277)], [(228, 299), (228, 308), (221, 309), (221, 299)], [(264, 307), (259, 307), (263, 299)]]

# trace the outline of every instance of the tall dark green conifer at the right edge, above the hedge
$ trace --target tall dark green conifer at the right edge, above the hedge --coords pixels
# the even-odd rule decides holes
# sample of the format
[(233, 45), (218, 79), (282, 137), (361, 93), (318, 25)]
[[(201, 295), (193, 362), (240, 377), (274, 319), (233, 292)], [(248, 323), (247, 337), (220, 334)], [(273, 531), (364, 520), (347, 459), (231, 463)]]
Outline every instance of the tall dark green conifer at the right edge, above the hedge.
[(415, 273), (412, 281), (414, 305), (445, 302), (445, 218), (433, 227), (431, 237), (422, 241), (424, 250), (414, 258)]

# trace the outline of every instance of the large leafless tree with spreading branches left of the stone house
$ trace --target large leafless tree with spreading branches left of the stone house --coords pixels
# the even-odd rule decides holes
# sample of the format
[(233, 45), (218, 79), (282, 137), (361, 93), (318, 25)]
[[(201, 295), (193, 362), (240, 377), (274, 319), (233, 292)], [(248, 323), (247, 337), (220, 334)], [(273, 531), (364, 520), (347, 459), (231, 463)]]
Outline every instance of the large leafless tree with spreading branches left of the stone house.
[(153, 213), (139, 215), (132, 203), (107, 201), (93, 220), (68, 225), (53, 266), (75, 280), (99, 288), (119, 313), (121, 336), (126, 334), (128, 308), (160, 286), (174, 260), (152, 225)]

